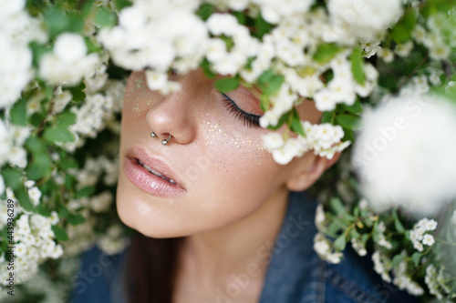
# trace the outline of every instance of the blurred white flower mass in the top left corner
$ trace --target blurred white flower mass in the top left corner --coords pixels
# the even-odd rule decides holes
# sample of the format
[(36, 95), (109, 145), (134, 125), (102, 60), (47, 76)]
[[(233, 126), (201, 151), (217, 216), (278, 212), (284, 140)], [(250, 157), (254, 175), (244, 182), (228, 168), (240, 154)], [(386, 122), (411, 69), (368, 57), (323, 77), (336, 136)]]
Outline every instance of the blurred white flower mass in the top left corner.
[(34, 20), (26, 14), (25, 0), (3, 0), (0, 10), (0, 109), (13, 105), (31, 80), (32, 52), (28, 43)]

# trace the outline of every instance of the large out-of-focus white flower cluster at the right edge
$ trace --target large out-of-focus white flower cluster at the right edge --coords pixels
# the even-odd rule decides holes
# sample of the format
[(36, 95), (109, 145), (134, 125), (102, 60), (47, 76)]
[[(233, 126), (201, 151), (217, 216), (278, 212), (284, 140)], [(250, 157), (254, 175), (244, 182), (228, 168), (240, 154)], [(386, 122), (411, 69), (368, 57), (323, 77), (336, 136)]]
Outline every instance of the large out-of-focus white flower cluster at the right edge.
[[(426, 89), (426, 78), (417, 78)], [(434, 214), (456, 197), (456, 109), (437, 96), (399, 96), (363, 116), (352, 163), (374, 209), (408, 207)], [(444, 166), (435, 164), (439, 159)], [(432, 176), (432, 177), (430, 177)]]

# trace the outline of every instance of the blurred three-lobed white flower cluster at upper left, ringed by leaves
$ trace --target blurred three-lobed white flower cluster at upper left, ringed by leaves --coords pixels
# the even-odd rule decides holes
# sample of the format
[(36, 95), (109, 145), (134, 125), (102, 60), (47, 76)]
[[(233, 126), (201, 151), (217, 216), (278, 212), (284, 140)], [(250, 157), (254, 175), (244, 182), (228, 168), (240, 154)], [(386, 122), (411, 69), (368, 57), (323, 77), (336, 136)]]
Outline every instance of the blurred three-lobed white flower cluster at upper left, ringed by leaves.
[(39, 74), (50, 84), (77, 85), (83, 76), (93, 74), (99, 63), (97, 54), (87, 52), (81, 35), (58, 35), (53, 52), (45, 54), (40, 60)]

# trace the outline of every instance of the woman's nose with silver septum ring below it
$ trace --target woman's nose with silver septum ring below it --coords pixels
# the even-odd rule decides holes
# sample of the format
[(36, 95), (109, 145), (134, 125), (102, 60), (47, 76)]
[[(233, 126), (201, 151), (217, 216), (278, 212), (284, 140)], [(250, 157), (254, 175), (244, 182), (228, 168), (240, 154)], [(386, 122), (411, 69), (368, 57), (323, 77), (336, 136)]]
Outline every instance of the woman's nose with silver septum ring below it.
[(194, 101), (195, 94), (189, 79), (191, 75), (182, 76), (181, 89), (178, 92), (162, 96), (153, 106), (150, 106), (146, 119), (160, 139), (168, 139), (169, 143), (189, 144), (196, 132), (196, 116)]

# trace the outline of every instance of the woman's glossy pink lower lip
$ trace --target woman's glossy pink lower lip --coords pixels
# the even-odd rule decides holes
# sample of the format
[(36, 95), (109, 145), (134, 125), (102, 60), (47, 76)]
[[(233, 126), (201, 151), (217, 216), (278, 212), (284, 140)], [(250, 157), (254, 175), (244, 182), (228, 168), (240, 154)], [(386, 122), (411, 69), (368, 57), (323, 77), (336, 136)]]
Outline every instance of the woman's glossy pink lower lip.
[(178, 184), (171, 184), (161, 177), (151, 174), (146, 168), (138, 163), (137, 159), (126, 158), (124, 162), (124, 172), (130, 182), (147, 191), (151, 195), (170, 197), (181, 196), (186, 190)]

